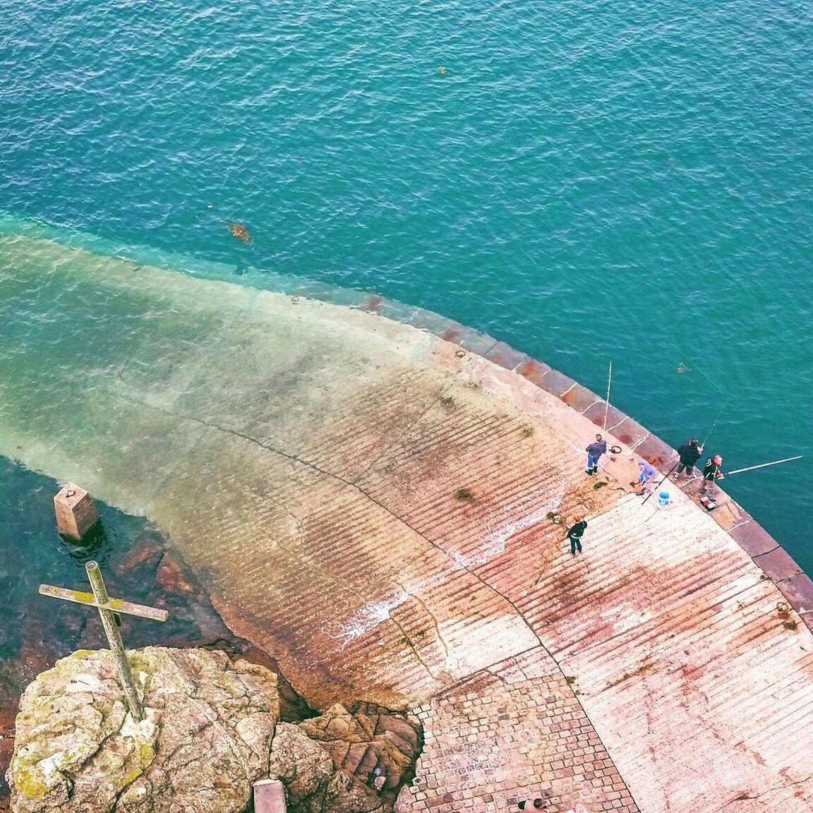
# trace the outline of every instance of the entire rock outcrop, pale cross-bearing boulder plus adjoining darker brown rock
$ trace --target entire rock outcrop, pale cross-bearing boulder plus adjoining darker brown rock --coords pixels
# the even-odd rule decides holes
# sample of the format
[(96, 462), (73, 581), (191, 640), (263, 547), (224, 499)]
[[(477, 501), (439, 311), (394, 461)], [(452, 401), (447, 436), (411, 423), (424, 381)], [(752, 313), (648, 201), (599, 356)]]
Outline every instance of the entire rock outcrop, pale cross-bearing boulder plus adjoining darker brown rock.
[(280, 723), (276, 675), (210, 650), (128, 653), (145, 720), (110, 653), (83, 650), (25, 690), (7, 773), (14, 813), (245, 813), (285, 785), (289, 813), (386, 813), (414, 775), (420, 726), (372, 703)]

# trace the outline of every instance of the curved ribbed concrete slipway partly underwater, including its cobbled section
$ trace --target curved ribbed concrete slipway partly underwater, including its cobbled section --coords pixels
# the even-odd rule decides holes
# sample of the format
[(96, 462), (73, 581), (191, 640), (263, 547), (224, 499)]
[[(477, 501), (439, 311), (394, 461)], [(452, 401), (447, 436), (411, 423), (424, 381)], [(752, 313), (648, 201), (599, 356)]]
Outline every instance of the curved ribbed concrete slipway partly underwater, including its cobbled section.
[(642, 504), (671, 451), (613, 409), (586, 477), (593, 393), (375, 297), (31, 235), (0, 295), (0, 453), (160, 524), (315, 705), (420, 716), (401, 811), (813, 811), (810, 580), (733, 502)]

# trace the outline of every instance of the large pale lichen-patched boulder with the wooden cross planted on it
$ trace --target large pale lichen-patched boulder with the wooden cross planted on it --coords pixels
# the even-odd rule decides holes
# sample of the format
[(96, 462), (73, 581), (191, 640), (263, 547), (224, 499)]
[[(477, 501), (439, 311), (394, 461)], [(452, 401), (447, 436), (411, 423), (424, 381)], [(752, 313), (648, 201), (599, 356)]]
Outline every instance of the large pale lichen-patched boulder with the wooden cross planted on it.
[(8, 771), (15, 813), (243, 813), (268, 773), (276, 676), (221, 652), (128, 653), (134, 723), (110, 654), (80, 651), (25, 690)]

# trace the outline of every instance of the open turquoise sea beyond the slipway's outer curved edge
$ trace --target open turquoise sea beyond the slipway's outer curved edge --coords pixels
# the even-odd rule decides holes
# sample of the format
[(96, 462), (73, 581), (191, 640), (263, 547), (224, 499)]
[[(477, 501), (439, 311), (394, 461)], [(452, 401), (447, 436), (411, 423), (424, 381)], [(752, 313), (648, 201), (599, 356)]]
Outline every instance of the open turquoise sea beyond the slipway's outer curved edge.
[(664, 440), (806, 455), (725, 485), (813, 573), (811, 67), (793, 0), (29, 0), (0, 210), (612, 362)]

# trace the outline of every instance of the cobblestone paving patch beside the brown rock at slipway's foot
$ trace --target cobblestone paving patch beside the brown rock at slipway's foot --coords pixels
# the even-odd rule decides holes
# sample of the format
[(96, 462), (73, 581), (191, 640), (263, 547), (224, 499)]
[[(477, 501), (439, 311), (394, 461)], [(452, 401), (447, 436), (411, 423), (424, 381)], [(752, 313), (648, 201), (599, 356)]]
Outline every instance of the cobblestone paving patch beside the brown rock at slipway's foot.
[(416, 710), (424, 752), (397, 813), (638, 813), (576, 694), (541, 647), (476, 673)]

